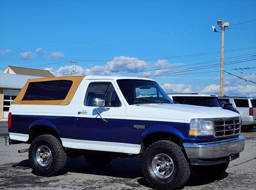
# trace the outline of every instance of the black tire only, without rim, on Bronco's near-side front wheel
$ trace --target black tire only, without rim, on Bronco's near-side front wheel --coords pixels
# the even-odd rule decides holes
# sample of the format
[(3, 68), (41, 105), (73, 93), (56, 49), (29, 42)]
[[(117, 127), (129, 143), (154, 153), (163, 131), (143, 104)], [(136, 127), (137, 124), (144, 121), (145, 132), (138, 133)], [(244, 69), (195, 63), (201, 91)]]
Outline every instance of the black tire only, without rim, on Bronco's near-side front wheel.
[[(167, 154), (174, 162), (174, 171), (168, 178), (159, 178), (153, 171), (152, 160), (158, 154)], [(146, 148), (142, 156), (144, 178), (152, 188), (171, 190), (183, 186), (189, 176), (189, 164), (177, 144), (171, 141), (157, 141)]]

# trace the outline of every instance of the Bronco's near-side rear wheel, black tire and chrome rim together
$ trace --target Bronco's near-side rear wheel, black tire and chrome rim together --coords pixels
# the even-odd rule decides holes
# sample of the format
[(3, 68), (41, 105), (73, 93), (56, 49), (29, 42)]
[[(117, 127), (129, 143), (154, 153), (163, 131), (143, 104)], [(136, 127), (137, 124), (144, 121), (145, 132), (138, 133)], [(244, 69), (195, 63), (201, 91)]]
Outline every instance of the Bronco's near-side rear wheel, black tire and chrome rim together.
[(41, 135), (30, 144), (28, 159), (34, 174), (54, 176), (63, 170), (67, 155), (56, 137)]

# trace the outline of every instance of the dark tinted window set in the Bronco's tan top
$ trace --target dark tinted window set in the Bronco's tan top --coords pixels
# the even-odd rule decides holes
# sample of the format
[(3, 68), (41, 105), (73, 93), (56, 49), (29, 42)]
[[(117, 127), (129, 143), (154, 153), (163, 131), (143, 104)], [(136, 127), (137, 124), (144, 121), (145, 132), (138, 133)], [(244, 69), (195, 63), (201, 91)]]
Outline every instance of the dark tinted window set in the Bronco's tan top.
[(72, 83), (69, 80), (29, 83), (22, 100), (64, 100)]

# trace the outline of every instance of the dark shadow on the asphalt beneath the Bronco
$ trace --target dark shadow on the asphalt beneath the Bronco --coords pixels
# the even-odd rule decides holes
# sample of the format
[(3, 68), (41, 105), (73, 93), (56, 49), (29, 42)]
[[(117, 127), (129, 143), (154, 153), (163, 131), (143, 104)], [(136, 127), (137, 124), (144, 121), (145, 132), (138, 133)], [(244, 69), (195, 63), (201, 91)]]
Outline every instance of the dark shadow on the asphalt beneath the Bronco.
[[(31, 168), (28, 160), (23, 160), (18, 164), (12, 165), (16, 169), (28, 169)], [(142, 174), (141, 160), (138, 157), (133, 158), (124, 158), (121, 160), (113, 160), (110, 164), (105, 167), (95, 168), (90, 166), (83, 156), (80, 156), (77, 159), (68, 158), (64, 171), (60, 174), (66, 174), (68, 172), (82, 173), (82, 174), (94, 174), (99, 176), (110, 176), (118, 178), (128, 178), (135, 179), (139, 178), (137, 182), (142, 186), (150, 188), (149, 184), (146, 182)], [(224, 172), (222, 175), (216, 178), (203, 178), (199, 177), (193, 172), (191, 172), (188, 181), (185, 186), (193, 187), (200, 186), (204, 184), (210, 184), (222, 180), (228, 176), (227, 172)], [(184, 187), (182, 187), (184, 188)], [(181, 189), (182, 189), (181, 188)]]

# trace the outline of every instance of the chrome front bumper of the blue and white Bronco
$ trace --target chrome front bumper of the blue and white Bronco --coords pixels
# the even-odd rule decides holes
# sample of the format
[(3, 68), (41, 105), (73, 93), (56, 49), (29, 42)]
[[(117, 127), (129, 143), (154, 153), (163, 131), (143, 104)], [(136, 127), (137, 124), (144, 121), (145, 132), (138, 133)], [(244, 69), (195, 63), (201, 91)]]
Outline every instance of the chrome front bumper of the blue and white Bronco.
[(209, 143), (183, 143), (188, 158), (220, 158), (244, 150), (244, 137)]

